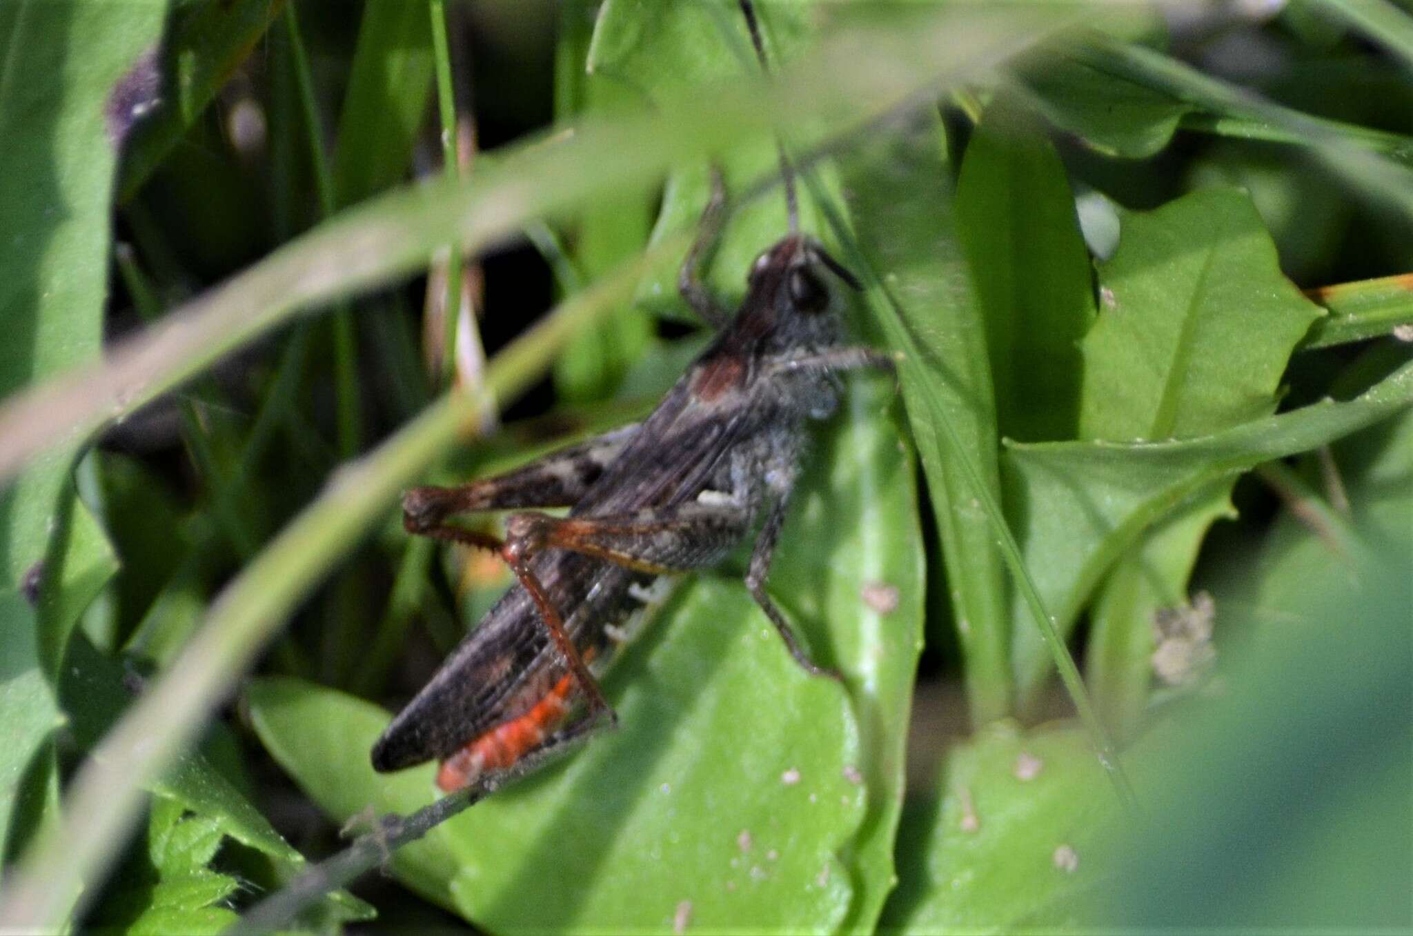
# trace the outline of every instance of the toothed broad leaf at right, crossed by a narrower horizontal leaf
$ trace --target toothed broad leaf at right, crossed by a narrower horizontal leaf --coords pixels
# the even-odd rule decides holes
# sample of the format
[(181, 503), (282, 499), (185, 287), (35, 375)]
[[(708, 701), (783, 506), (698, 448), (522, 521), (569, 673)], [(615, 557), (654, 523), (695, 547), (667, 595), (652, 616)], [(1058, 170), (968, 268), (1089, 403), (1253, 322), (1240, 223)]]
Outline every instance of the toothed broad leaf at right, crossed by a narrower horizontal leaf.
[[(1296, 343), (1320, 315), (1280, 272), (1249, 196), (1200, 189), (1123, 223), (1099, 268), (1105, 311), (1084, 340), (1087, 438), (1219, 432), (1276, 408)], [(1187, 601), (1186, 584), (1235, 479), (1205, 491), (1099, 587), (1088, 671), (1123, 736), (1145, 707), (1153, 618)]]

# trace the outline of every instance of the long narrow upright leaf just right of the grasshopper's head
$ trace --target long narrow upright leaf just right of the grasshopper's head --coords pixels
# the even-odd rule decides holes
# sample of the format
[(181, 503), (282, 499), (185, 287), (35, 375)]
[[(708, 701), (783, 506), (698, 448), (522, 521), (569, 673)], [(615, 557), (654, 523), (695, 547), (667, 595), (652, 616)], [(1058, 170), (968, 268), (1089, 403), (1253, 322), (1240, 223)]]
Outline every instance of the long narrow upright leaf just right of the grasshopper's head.
[[(870, 337), (903, 354), (899, 380), (947, 563), (952, 616), (976, 724), (1010, 710), (1005, 576), (995, 535), (954, 457), (976, 459), (999, 498), (996, 414), (986, 335), (952, 230), (935, 119), (870, 140), (845, 160), (845, 191), (868, 274)], [(853, 258), (845, 257), (845, 263)], [(950, 452), (938, 422), (957, 429)]]

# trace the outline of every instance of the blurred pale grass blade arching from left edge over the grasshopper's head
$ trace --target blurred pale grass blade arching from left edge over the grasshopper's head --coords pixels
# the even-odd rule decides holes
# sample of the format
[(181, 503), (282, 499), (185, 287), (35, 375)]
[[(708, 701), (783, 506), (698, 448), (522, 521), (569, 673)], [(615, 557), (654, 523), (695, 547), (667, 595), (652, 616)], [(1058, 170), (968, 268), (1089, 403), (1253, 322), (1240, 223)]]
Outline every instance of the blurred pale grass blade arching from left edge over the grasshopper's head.
[[(887, 7), (893, 10), (893, 7)], [(342, 212), (226, 284), (81, 368), (0, 408), (0, 480), (35, 453), (86, 438), (199, 373), (295, 311), (410, 272), (449, 240), (479, 250), (536, 215), (651, 178), (776, 124), (856, 127), (920, 88), (992, 68), (1063, 21), (1006, 10), (928, 10), (923, 20), (841, 31), (779, 72), (736, 78), (653, 112), (601, 119), (458, 184), (390, 192)]]

